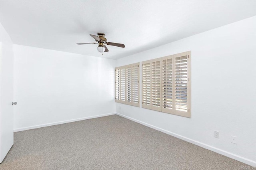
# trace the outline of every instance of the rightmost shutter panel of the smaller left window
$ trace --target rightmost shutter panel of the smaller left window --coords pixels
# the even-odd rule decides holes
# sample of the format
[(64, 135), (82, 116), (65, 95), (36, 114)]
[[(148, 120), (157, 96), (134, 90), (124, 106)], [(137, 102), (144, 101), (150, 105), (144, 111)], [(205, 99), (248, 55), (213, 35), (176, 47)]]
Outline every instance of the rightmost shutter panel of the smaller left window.
[(132, 105), (140, 106), (140, 63), (132, 65)]

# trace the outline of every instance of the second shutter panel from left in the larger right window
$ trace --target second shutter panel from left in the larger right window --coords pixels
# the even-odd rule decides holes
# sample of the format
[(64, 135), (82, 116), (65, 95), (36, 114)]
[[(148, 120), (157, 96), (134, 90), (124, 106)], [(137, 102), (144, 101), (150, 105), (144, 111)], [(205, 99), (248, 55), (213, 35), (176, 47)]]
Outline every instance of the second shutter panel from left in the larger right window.
[(161, 65), (160, 59), (151, 60), (151, 109), (161, 111)]

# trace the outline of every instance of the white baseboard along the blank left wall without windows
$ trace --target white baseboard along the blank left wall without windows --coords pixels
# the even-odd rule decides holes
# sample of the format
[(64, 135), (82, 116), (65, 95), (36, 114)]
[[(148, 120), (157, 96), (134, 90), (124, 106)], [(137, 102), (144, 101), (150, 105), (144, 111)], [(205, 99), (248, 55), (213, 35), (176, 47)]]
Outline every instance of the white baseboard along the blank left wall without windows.
[(78, 118), (78, 119), (71, 119), (71, 120), (67, 120), (67, 121), (60, 121), (60, 122), (54, 122), (54, 123), (47, 123), (47, 124), (36, 125), (36, 126), (31, 126), (31, 127), (15, 128), (15, 129), (14, 129), (14, 132), (19, 132), (19, 131), (29, 130), (29, 129), (34, 129), (34, 128), (48, 127), (48, 126), (52, 126), (52, 125), (60, 125), (60, 124), (63, 124), (63, 123), (70, 123), (70, 122), (76, 122), (76, 121), (83, 121), (83, 120), (86, 120), (86, 119), (93, 119), (93, 118), (97, 118), (97, 117), (104, 117), (104, 116), (115, 115), (115, 114), (116, 114), (116, 113), (107, 113), (107, 114), (103, 114), (103, 115), (82, 117), (82, 118)]

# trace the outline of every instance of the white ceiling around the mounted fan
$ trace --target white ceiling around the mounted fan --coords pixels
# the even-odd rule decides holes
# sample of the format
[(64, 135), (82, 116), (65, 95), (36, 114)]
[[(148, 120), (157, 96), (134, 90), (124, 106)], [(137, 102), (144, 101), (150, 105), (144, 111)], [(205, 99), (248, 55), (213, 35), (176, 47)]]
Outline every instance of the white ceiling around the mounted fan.
[[(256, 1), (0, 1), (15, 44), (118, 59), (256, 15)], [(89, 34), (106, 34), (102, 56)]]

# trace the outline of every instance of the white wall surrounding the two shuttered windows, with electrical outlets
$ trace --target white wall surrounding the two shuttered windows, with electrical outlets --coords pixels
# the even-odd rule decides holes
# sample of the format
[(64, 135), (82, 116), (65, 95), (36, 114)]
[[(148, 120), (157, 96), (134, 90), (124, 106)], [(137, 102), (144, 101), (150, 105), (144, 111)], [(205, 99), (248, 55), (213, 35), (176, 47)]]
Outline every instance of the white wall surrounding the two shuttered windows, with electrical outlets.
[(256, 16), (118, 59), (116, 66), (190, 50), (191, 118), (120, 103), (116, 112), (256, 166)]

